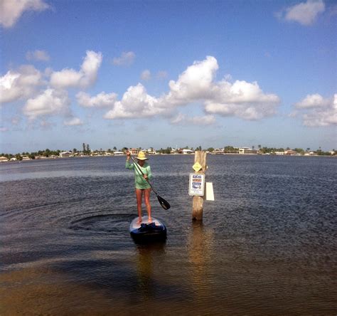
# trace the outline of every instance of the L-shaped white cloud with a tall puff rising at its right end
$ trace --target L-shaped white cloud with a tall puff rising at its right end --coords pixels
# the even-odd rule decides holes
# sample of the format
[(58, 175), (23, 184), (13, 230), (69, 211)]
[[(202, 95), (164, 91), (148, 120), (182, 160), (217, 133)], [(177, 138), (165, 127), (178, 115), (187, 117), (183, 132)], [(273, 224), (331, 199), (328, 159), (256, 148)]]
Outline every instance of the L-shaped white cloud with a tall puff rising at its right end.
[(55, 88), (87, 88), (97, 80), (97, 72), (102, 63), (102, 53), (87, 51), (79, 71), (65, 68), (50, 75), (50, 85)]

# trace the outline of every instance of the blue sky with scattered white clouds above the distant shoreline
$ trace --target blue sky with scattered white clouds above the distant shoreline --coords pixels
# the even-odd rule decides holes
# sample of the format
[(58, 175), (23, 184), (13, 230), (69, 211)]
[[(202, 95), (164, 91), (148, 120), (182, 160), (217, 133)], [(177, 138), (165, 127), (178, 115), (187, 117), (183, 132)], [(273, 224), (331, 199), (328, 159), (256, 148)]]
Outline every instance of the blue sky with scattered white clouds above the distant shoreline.
[(337, 149), (337, 3), (0, 0), (0, 152)]

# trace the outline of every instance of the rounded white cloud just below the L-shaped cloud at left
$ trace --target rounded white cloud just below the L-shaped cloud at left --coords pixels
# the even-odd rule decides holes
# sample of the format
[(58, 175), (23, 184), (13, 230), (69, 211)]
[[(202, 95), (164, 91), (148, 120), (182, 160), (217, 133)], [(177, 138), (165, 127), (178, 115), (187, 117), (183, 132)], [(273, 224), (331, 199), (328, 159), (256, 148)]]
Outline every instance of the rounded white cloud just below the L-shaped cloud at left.
[(69, 105), (66, 91), (48, 88), (36, 98), (27, 100), (23, 114), (31, 120), (49, 115), (66, 115), (69, 113)]

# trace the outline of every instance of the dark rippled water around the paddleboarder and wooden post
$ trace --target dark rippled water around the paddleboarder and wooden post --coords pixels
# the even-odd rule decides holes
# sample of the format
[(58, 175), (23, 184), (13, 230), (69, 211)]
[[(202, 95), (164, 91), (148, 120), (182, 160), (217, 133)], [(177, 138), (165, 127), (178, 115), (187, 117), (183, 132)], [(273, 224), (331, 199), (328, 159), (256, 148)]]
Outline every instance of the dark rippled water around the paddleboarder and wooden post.
[(0, 315), (336, 315), (336, 159), (151, 157), (166, 243), (137, 245), (125, 157), (0, 165)]

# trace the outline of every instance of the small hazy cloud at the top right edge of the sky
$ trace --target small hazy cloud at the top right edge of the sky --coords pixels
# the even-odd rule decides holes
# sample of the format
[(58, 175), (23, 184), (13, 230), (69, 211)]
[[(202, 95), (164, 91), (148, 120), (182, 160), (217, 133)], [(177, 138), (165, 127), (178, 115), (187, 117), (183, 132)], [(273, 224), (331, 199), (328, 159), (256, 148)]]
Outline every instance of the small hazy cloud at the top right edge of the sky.
[(286, 21), (295, 21), (304, 26), (313, 24), (317, 16), (325, 11), (323, 0), (308, 0), (282, 11), (279, 16)]

